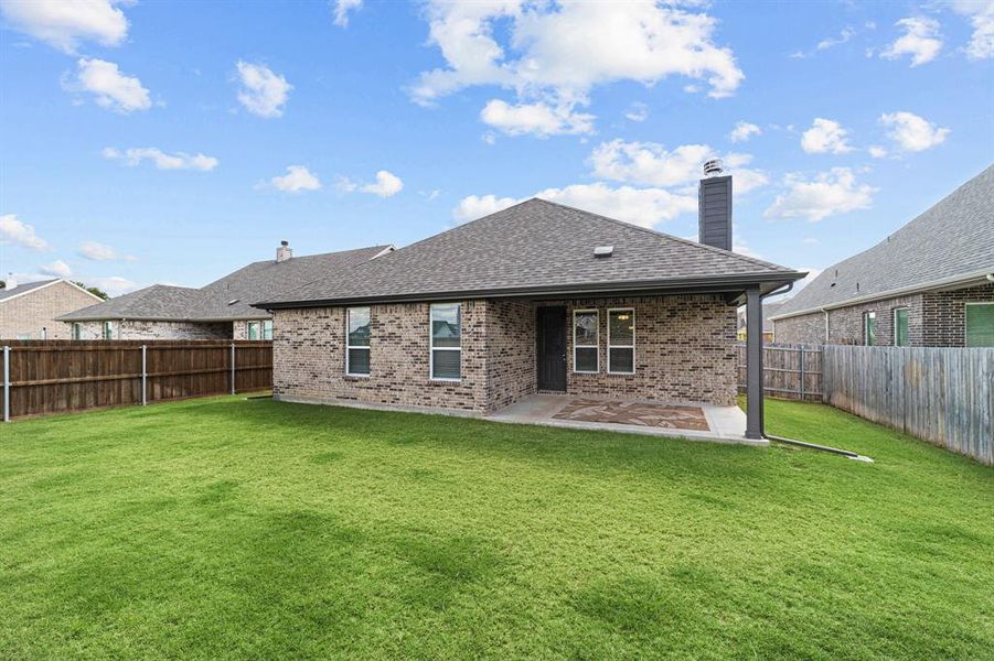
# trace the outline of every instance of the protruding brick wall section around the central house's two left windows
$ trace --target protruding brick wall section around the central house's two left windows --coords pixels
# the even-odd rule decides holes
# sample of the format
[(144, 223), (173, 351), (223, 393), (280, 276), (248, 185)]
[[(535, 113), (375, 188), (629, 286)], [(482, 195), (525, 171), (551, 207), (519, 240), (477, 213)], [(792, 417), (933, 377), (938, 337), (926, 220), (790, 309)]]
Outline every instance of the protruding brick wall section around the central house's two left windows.
[(274, 312), (272, 392), (398, 407), (487, 409), (487, 302), (462, 302), (462, 380), (428, 373), (427, 303), (371, 306), (370, 376), (345, 375), (345, 308)]

